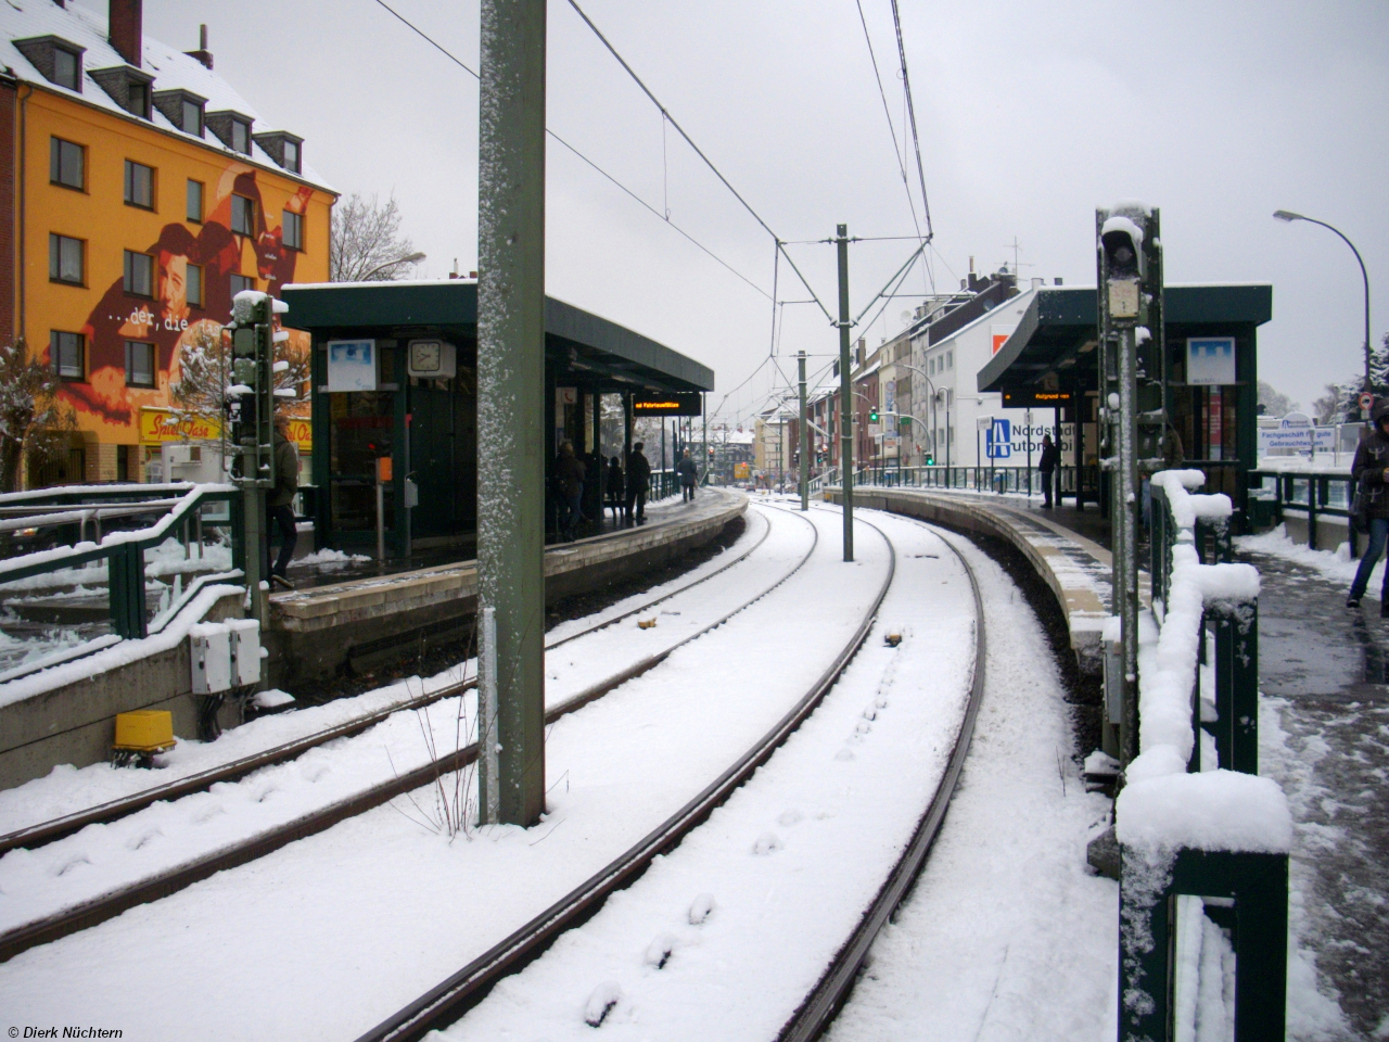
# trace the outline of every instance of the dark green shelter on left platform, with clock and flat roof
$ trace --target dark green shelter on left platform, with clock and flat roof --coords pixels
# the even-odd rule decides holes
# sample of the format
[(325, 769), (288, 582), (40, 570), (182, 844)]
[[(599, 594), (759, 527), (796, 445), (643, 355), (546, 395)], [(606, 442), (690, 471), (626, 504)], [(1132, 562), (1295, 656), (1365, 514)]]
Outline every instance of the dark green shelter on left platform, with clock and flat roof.
[[(315, 547), (375, 545), (379, 481), (388, 556), (474, 553), (478, 283), (289, 285), (282, 299), (286, 325), (313, 342)], [(633, 396), (681, 395), (699, 406), (699, 392), (714, 389), (713, 370), (553, 297), (544, 381), (546, 486), (558, 445), (571, 440), (588, 464), (590, 517), (601, 517), (603, 453), (621, 449), (625, 460), (631, 447)], [(553, 527), (553, 506), (547, 515)]]

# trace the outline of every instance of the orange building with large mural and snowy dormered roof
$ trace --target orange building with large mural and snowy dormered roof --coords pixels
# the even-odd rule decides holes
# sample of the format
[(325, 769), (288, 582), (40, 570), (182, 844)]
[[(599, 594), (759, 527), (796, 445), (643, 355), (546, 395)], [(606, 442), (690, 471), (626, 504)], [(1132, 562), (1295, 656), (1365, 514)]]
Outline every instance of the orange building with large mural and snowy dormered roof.
[(142, 481), (182, 436), (158, 415), (181, 354), (232, 295), (328, 279), (336, 195), (213, 72), (206, 32), (144, 38), (142, 0), (106, 21), (6, 3), (0, 28), (0, 338), (53, 365), (79, 431), (28, 483)]

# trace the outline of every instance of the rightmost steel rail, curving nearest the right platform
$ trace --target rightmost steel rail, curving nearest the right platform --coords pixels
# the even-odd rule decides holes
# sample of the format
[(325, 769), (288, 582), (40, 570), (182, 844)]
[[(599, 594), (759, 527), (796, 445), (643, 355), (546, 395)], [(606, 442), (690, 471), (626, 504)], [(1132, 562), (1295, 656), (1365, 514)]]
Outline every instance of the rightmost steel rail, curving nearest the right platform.
[(936, 786), (936, 792), (931, 797), (931, 803), (926, 806), (925, 813), (917, 822), (917, 828), (911, 835), (911, 842), (907, 843), (901, 857), (888, 874), (886, 881), (878, 891), (872, 903), (864, 910), (863, 917), (858, 920), (858, 925), (854, 927), (849, 939), (839, 949), (839, 952), (835, 953), (835, 957), (831, 960), (824, 975), (806, 996), (800, 1007), (790, 1016), (786, 1024), (782, 1025), (782, 1029), (776, 1036), (778, 1042), (813, 1042), (814, 1039), (818, 1039), (849, 999), (849, 993), (853, 991), (854, 982), (858, 979), (858, 971), (868, 959), (868, 950), (872, 948), (874, 941), (888, 924), (889, 918), (892, 918), (893, 913), (896, 913), (897, 906), (901, 904), (903, 899), (906, 899), (913, 884), (917, 881), (917, 877), (921, 874), (926, 859), (931, 856), (931, 849), (936, 842), (936, 836), (940, 834), (940, 827), (945, 822), (950, 800), (960, 782), (960, 774), (964, 770), (964, 761), (970, 753), (971, 739), (974, 738), (974, 725), (979, 716), (979, 704), (983, 702), (988, 646), (985, 632), (986, 627), (983, 621), (983, 597), (979, 593), (979, 581), (974, 574), (974, 568), (970, 567), (970, 561), (967, 561), (964, 554), (960, 553), (960, 549), (938, 528), (915, 521), (915, 518), (904, 520), (913, 521), (914, 524), (918, 524), (926, 531), (935, 534), (946, 546), (950, 547), (951, 553), (954, 553), (954, 556), (960, 560), (960, 564), (964, 565), (965, 575), (970, 577), (970, 588), (974, 592), (975, 617), (974, 678), (970, 686), (970, 702), (965, 706), (964, 720), (960, 724), (960, 734), (956, 738), (954, 750), (950, 753), (946, 771), (940, 777), (940, 784)]

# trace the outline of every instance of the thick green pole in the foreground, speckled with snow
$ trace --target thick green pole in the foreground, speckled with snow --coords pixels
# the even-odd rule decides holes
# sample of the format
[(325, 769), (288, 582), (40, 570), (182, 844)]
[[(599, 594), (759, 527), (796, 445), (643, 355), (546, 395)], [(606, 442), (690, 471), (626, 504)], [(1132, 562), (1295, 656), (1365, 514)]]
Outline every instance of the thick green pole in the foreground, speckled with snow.
[(478, 592), (496, 620), (497, 820), (513, 825), (544, 811), (544, 33), (546, 0), (482, 0)]

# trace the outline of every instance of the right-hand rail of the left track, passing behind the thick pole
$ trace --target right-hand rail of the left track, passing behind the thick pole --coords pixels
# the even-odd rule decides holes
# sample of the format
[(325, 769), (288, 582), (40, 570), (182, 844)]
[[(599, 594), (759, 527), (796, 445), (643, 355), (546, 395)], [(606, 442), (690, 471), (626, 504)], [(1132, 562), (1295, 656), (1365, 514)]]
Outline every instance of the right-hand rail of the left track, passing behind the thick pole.
[[(672, 652), (678, 647), (683, 647), (692, 640), (699, 639), (711, 629), (726, 624), (733, 615), (751, 607), (768, 593), (775, 590), (783, 582), (786, 582), (792, 575), (800, 571), (806, 563), (810, 560), (811, 554), (815, 552), (815, 546), (820, 542), (820, 529), (814, 527), (806, 518), (801, 518), (806, 524), (811, 525), (814, 538), (811, 539), (810, 549), (806, 550), (804, 556), (796, 563), (796, 565), (779, 577), (770, 586), (760, 590), (756, 596), (745, 600), (732, 611), (724, 614), (717, 621), (703, 627), (699, 632), (679, 640), (678, 643), (667, 647), (664, 652), (647, 656), (640, 661), (619, 670), (617, 674), (608, 677), (606, 681), (596, 684), (563, 703), (546, 710), (544, 722), (553, 724), (563, 716), (572, 713), (589, 702), (601, 697), (610, 690), (626, 684), (629, 679), (639, 677), (640, 674), (651, 670), (654, 665), (664, 661)], [(690, 586), (696, 584), (689, 584)], [(397, 710), (399, 711), (399, 710)], [(468, 764), (478, 759), (478, 743), (474, 742), (461, 749), (456, 749), (444, 756), (433, 760), (432, 763), (417, 767), (407, 774), (397, 775), (388, 782), (375, 785), (369, 789), (353, 793), (336, 803), (331, 803), (325, 807), (317, 807), (300, 817), (289, 821), (283, 825), (278, 825), (267, 832), (263, 832), (250, 839), (238, 841), (229, 843), (219, 850), (194, 857), (185, 861), (181, 866), (175, 866), (156, 875), (147, 877), (138, 882), (128, 884), (115, 891), (104, 893), (99, 898), (82, 902), (79, 904), (72, 904), (67, 909), (56, 911), (43, 918), (26, 923), (22, 927), (11, 929), (6, 934), (0, 934), (0, 963), (8, 961), (14, 956), (25, 952), (38, 945), (46, 945), (60, 938), (68, 936), (89, 927), (94, 927), (104, 923), (108, 918), (119, 916), (122, 911), (128, 911), (139, 904), (149, 903), (151, 900), (158, 900), (160, 898), (167, 898), (171, 893), (176, 893), (181, 889), (192, 886), (194, 882), (208, 878), (210, 875), (224, 871), (226, 868), (236, 868), (238, 866), (254, 861), (264, 857), (274, 850), (281, 849), (297, 839), (324, 832), (333, 825), (346, 821), (350, 817), (363, 814), (374, 807), (383, 803), (389, 803), (396, 796), (401, 796), (407, 792), (418, 789), (424, 785), (433, 784), (438, 778), (444, 774), (451, 774), (453, 771), (463, 770)]]

